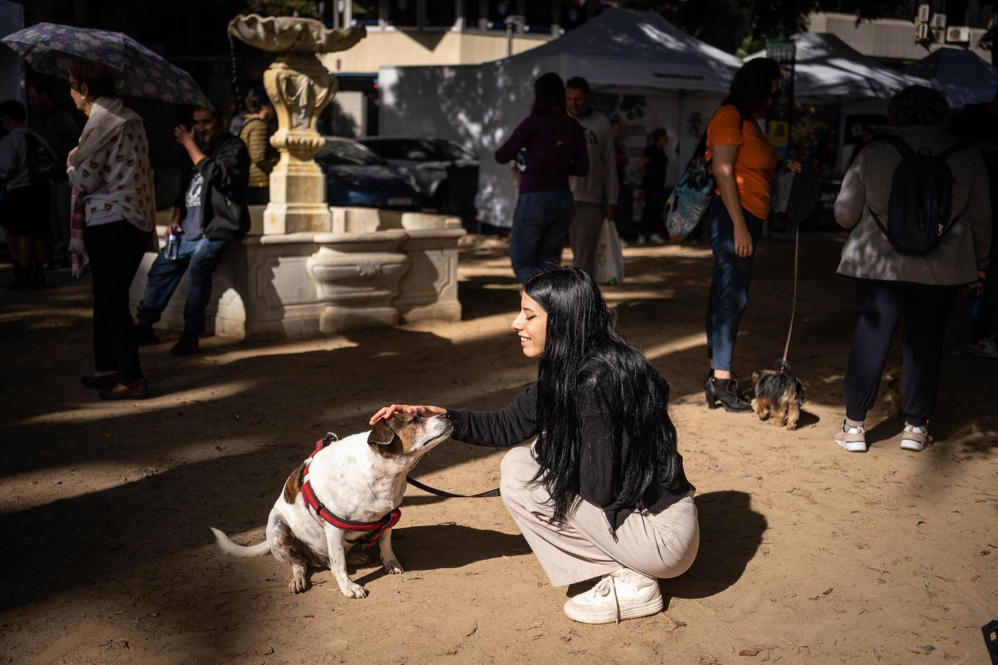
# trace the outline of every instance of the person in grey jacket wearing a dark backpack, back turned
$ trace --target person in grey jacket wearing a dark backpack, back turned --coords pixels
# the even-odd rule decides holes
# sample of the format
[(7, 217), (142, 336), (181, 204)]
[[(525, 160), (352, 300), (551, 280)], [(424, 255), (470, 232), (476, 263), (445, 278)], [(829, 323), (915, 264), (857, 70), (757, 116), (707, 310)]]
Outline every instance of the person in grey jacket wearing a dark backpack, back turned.
[(901, 448), (932, 444), (946, 322), (960, 292), (988, 270), (991, 202), (977, 150), (947, 132), (945, 95), (910, 86), (891, 98), (892, 132), (856, 157), (835, 201), (852, 233), (838, 274), (856, 281), (856, 324), (845, 370), (845, 419), (835, 443), (865, 452), (873, 406), (894, 331), (904, 320)]

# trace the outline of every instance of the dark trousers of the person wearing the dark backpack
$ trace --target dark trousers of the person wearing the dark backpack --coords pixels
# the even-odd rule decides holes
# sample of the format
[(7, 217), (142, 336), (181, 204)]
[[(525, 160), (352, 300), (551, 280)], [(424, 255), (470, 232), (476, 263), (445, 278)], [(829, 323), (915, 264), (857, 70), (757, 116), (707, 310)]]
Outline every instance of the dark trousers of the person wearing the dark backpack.
[(924, 426), (935, 411), (946, 320), (957, 286), (856, 281), (856, 328), (845, 369), (845, 415), (862, 420), (873, 407), (890, 342), (904, 319), (901, 409), (907, 422)]

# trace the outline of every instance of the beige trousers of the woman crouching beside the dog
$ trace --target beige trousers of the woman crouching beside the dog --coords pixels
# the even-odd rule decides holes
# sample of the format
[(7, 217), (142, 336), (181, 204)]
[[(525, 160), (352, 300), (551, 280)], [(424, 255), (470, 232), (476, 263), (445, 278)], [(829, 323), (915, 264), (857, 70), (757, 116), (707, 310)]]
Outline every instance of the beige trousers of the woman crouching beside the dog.
[(650, 577), (678, 577), (693, 564), (700, 546), (693, 492), (657, 515), (631, 513), (615, 541), (603, 511), (588, 501), (579, 501), (566, 522), (552, 523), (548, 492), (542, 485), (527, 486), (538, 468), (528, 448), (513, 448), (503, 457), (500, 487), (503, 503), (552, 586), (600, 577), (622, 566)]

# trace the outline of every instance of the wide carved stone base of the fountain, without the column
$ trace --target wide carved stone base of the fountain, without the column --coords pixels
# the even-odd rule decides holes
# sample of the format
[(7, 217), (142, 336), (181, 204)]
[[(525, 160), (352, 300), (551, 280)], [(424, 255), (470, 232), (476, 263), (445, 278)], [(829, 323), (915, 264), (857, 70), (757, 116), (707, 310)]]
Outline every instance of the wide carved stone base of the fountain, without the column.
[[(262, 207), (253, 210), (258, 226)], [(332, 208), (336, 233), (249, 235), (223, 256), (212, 282), (207, 333), (273, 339), (427, 320), (459, 321), (458, 218)], [(159, 229), (163, 237), (165, 227)], [(156, 259), (132, 283), (132, 307)], [(157, 329), (184, 330), (187, 276)]]

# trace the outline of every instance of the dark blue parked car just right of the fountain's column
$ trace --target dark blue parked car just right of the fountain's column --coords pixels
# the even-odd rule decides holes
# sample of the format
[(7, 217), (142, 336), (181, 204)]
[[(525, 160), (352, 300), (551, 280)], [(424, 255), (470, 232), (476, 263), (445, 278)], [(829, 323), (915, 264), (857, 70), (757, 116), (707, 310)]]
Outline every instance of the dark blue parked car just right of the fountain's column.
[(419, 208), (419, 192), (412, 175), (352, 139), (325, 137), (325, 146), (315, 154), (315, 162), (325, 174), (330, 206)]

